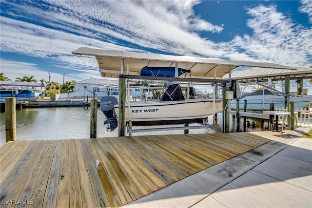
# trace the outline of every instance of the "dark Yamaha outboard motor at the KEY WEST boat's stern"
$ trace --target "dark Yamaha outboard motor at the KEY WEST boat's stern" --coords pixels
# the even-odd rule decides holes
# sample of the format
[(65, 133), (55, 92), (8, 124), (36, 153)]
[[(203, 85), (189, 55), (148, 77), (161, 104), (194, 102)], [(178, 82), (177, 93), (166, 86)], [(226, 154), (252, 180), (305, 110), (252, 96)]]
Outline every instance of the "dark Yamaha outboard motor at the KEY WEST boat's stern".
[(110, 126), (107, 126), (107, 130), (111, 129), (111, 132), (118, 126), (117, 114), (114, 109), (116, 104), (118, 104), (118, 101), (114, 96), (104, 96), (100, 100), (100, 109), (107, 117), (104, 121), (104, 125), (110, 124)]

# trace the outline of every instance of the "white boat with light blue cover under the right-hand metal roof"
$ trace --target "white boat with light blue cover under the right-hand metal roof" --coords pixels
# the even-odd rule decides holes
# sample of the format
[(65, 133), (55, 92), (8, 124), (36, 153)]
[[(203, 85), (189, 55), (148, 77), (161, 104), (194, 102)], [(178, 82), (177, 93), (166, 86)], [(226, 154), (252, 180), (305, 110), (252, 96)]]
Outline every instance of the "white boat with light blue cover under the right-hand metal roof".
[[(288, 96), (288, 95), (286, 95)], [(248, 111), (270, 111), (270, 104), (274, 103), (274, 108), (285, 107), (285, 95), (262, 89), (250, 94), (238, 97), (239, 109), (244, 110), (244, 100), (247, 100)], [(289, 101), (294, 102), (294, 109), (304, 108), (312, 102), (312, 95), (289, 95)], [(230, 108), (236, 109), (236, 99), (230, 101)]]

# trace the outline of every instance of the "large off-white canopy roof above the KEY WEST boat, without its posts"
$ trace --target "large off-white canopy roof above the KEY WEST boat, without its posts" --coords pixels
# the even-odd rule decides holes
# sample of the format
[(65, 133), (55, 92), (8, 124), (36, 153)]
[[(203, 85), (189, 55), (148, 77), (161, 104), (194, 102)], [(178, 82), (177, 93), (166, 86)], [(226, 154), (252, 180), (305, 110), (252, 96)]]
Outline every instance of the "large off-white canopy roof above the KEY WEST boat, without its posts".
[[(190, 56), (172, 56), (153, 53), (136, 53), (128, 51), (113, 51), (93, 49), (88, 47), (78, 48), (73, 51), (74, 55), (95, 56), (98, 61), (101, 76), (117, 77), (121, 74), (121, 58), (124, 58), (124, 72), (129, 69), (129, 75), (140, 75), (143, 67), (175, 67), (191, 70), (193, 77), (216, 77), (221, 78), (236, 67), (260, 67), (273, 69), (292, 69), (274, 63), (260, 63), (251, 61), (225, 60), (220, 58), (201, 58)], [(215, 72), (216, 71), (216, 72)]]

